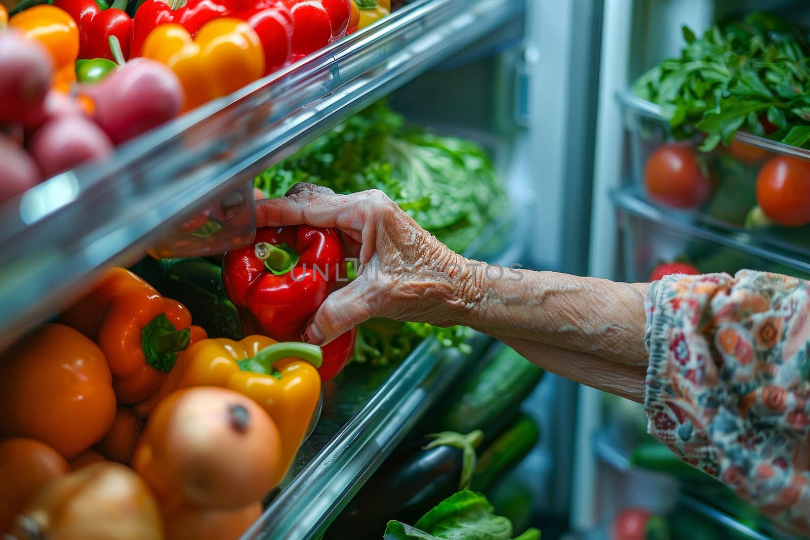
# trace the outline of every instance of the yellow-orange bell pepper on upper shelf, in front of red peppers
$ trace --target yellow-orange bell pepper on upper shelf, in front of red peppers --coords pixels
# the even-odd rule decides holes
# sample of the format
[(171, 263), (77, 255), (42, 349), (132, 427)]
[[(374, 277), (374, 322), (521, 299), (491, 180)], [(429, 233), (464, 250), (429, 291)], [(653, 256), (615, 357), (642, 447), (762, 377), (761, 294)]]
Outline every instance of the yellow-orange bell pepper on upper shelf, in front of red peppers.
[(163, 62), (185, 91), (188, 111), (239, 90), (264, 74), (264, 49), (248, 23), (228, 17), (203, 24), (194, 39), (180, 24), (161, 24), (143, 42), (141, 56)]

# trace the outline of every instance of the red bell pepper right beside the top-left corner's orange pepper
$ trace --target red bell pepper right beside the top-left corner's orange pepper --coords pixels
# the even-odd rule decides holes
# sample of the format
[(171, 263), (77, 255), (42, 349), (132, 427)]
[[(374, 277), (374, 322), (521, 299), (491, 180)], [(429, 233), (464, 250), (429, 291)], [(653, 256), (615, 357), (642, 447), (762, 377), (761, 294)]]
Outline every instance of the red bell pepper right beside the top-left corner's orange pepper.
[(102, 10), (96, 0), (56, 0), (54, 6), (67, 11), (79, 26), (79, 58), (115, 60), (109, 48), (110, 36), (116, 36), (124, 57), (129, 57), (132, 19), (127, 15), (126, 0), (115, 0)]

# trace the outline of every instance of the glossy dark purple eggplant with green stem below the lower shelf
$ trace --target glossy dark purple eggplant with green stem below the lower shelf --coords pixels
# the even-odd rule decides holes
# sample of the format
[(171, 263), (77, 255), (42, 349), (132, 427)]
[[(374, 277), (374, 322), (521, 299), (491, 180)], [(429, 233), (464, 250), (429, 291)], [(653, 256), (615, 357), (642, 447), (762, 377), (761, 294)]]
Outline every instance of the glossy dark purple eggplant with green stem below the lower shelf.
[(440, 435), (406, 444), (386, 459), (335, 518), (324, 540), (377, 540), (388, 521), (416, 523), (431, 508), (466, 487), (465, 471), (475, 467), (469, 458), (471, 453), (475, 456), (475, 446), (483, 434)]

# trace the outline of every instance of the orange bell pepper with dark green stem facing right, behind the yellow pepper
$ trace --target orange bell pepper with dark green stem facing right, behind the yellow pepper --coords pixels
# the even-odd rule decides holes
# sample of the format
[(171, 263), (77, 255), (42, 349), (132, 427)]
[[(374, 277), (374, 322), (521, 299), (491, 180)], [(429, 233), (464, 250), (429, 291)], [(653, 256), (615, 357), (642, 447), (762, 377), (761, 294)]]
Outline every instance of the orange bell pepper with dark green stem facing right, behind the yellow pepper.
[(189, 310), (160, 296), (129, 270), (116, 268), (62, 313), (62, 321), (94, 339), (113, 372), (119, 403), (149, 398), (191, 342), (206, 338)]

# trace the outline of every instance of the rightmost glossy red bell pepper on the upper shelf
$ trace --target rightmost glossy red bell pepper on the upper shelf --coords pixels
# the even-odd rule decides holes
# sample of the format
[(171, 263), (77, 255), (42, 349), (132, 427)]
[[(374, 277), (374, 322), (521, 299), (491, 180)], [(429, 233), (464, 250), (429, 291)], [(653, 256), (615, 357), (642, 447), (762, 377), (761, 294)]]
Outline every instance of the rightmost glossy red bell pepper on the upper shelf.
[(350, 0), (283, 0), (292, 12), (292, 60), (296, 61), (346, 35)]

